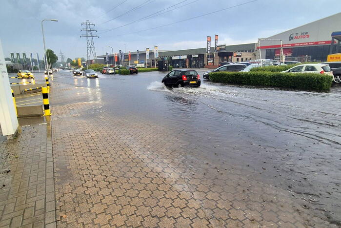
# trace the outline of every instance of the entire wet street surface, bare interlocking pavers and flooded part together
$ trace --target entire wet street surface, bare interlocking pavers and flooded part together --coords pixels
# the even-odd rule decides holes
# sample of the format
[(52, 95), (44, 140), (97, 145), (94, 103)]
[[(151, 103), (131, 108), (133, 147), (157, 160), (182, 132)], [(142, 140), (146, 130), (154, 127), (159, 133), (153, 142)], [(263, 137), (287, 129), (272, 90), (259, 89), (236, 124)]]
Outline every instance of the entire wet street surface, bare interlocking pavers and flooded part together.
[(340, 86), (167, 89), (163, 75), (55, 74), (58, 226), (340, 226)]

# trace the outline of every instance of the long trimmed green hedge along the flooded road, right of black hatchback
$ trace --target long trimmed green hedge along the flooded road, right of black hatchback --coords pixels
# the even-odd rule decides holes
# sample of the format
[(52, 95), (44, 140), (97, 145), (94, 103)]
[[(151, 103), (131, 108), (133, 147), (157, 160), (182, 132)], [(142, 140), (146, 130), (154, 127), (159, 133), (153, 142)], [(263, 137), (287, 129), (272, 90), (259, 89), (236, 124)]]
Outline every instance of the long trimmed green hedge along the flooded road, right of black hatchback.
[(212, 72), (209, 79), (217, 83), (261, 85), (284, 88), (328, 90), (332, 76), (316, 73), (280, 73), (270, 71)]

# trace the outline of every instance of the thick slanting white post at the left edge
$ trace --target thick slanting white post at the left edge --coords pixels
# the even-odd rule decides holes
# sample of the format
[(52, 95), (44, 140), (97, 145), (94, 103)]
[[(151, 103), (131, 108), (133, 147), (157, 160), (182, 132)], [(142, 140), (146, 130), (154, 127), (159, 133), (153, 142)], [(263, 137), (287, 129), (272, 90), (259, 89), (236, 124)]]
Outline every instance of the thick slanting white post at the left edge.
[(2, 135), (13, 139), (18, 130), (18, 119), (13, 104), (11, 86), (9, 84), (5, 59), (0, 41), (0, 125)]

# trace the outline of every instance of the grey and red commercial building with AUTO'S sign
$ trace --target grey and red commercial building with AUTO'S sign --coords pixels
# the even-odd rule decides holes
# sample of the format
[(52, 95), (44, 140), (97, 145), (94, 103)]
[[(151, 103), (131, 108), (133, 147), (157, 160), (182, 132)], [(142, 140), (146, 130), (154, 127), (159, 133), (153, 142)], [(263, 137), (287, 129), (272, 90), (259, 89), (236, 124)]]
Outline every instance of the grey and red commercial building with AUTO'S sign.
[[(339, 52), (340, 41), (332, 43), (332, 33), (341, 31), (341, 13), (313, 21), (297, 28), (268, 37), (269, 40), (281, 40), (283, 54), (287, 60), (300, 62), (325, 61), (330, 52)], [(339, 32), (340, 33), (340, 32)], [(338, 35), (338, 33), (334, 33)], [(281, 41), (261, 40), (261, 58), (279, 59)], [(257, 53), (257, 58), (259, 58)]]

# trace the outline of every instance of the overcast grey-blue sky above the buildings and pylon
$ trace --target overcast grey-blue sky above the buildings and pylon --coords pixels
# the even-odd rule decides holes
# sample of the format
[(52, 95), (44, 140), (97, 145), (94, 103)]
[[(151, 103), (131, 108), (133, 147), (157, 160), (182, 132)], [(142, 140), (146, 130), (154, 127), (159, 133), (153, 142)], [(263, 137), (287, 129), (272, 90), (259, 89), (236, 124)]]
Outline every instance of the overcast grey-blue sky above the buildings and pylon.
[[(219, 35), (219, 44), (257, 42), (258, 38), (319, 20), (341, 9), (341, 0), (249, 1), (0, 0), (0, 39), (5, 57), (11, 52), (20, 56), (38, 52), (42, 56), (40, 21), (58, 19), (59, 22), (44, 22), (47, 47), (58, 53), (61, 50), (66, 58), (86, 58), (86, 39), (80, 38), (80, 28), (82, 21), (89, 20), (96, 24), (94, 28), (100, 36), (94, 40), (97, 55), (111, 53), (107, 45), (114, 52), (124, 51), (124, 44), (126, 51), (153, 49), (154, 45), (159, 50), (180, 50), (205, 47), (206, 36), (213, 38), (214, 34)], [(245, 4), (236, 6), (242, 3)], [(233, 6), (236, 7), (182, 21)], [(148, 19), (151, 15), (156, 16)], [(134, 21), (137, 22), (131, 23)], [(182, 22), (155, 28), (177, 21)], [(131, 24), (122, 26), (127, 23)]]

